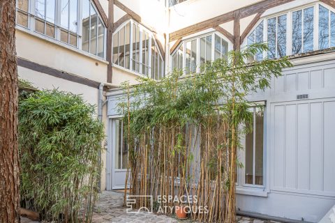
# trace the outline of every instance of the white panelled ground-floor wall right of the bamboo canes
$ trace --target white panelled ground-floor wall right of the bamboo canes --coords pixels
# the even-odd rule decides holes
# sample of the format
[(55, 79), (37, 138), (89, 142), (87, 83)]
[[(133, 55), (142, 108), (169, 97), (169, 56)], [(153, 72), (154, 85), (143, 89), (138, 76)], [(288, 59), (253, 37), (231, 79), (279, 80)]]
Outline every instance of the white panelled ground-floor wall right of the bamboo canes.
[(335, 204), (335, 61), (289, 68), (249, 100), (266, 101), (265, 182), (237, 185), (237, 208), (318, 222)]

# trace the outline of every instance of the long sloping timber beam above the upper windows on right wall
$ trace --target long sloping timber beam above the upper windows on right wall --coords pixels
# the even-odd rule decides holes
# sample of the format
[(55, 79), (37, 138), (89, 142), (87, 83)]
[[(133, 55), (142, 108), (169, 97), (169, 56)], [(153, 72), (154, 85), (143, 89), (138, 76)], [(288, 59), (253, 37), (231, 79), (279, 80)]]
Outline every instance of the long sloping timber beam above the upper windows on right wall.
[[(265, 11), (269, 8), (273, 8), (276, 6), (281, 6), (284, 3), (288, 3), (290, 1), (294, 0), (265, 0), (260, 1), (258, 3), (254, 3), (251, 6), (246, 6), (244, 8), (240, 8), (238, 10), (241, 10), (241, 16), (240, 18), (243, 19), (244, 17), (248, 17), (250, 15), (253, 15), (255, 13), (260, 13), (262, 11)], [(324, 0), (328, 1), (328, 0)], [(330, 0), (329, 0), (330, 1)], [(236, 11), (236, 10), (235, 10)], [(191, 26), (188, 26), (183, 29), (179, 29), (177, 31), (174, 31), (170, 33), (170, 42), (173, 40), (178, 40), (179, 38), (183, 38), (185, 36), (189, 36), (193, 33), (198, 33), (200, 31), (204, 31), (209, 28), (213, 28), (215, 26), (218, 26), (220, 24), (223, 24), (225, 22), (230, 22), (234, 20), (234, 11), (225, 13), (223, 15), (218, 15), (216, 17), (213, 17), (209, 20), (204, 20), (202, 22), (198, 22), (197, 24), (193, 24)]]

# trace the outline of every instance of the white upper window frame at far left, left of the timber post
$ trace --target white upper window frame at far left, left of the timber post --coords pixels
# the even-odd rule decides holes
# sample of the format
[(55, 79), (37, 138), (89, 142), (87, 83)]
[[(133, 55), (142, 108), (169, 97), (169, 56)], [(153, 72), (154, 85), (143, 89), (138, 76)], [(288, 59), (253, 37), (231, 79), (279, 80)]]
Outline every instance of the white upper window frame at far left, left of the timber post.
[[(36, 19), (38, 19), (38, 17), (35, 15), (36, 10), (36, 1), (37, 0), (28, 0), (28, 12), (25, 12), (24, 10), (21, 10), (18, 8), (18, 1), (15, 2), (15, 12), (17, 13), (18, 10), (23, 11), (24, 13), (28, 14), (28, 26), (22, 26), (21, 24), (17, 23), (17, 18), (15, 17), (15, 27), (19, 28), (21, 31), (26, 31), (28, 33), (31, 33), (34, 36), (38, 36), (40, 38), (43, 38), (45, 40), (49, 40), (52, 43), (56, 43), (57, 45), (61, 45), (70, 49), (74, 49), (76, 52), (79, 50), (80, 52), (82, 52), (83, 54), (88, 54), (89, 56), (92, 56), (98, 60), (103, 60), (105, 61), (106, 59), (106, 55), (107, 55), (107, 29), (106, 26), (103, 22), (103, 19), (100, 15), (100, 13), (98, 12), (98, 9), (96, 8), (95, 4), (93, 1), (89, 0), (90, 5), (94, 8), (94, 10), (96, 10), (96, 13), (98, 15), (98, 20), (101, 20), (101, 24), (103, 25), (103, 29), (104, 29), (104, 38), (103, 38), (103, 56), (98, 56), (98, 53), (96, 54), (91, 54), (90, 52), (85, 51), (84, 49), (82, 49), (82, 1), (81, 0), (77, 0), (77, 33), (74, 33), (73, 31), (70, 31), (69, 29), (64, 29), (61, 26), (61, 1), (56, 0), (55, 1), (55, 14), (54, 14), (54, 38), (47, 36), (45, 33), (40, 33), (38, 31), (35, 30), (36, 27)], [(43, 19), (38, 19), (38, 20), (43, 20)], [(68, 18), (68, 20), (70, 20), (70, 17)], [(47, 22), (46, 20), (43, 20), (43, 22), (45, 23), (50, 23)], [(98, 24), (98, 22), (97, 22)], [(68, 31), (68, 36), (70, 36), (69, 33), (74, 33), (77, 36), (77, 46), (74, 45), (70, 45), (70, 43), (66, 43), (61, 41), (61, 29), (64, 29), (66, 31)], [(91, 33), (91, 32), (90, 32)], [(97, 29), (97, 33), (98, 33), (98, 29)], [(98, 43), (97, 43), (98, 45)]]

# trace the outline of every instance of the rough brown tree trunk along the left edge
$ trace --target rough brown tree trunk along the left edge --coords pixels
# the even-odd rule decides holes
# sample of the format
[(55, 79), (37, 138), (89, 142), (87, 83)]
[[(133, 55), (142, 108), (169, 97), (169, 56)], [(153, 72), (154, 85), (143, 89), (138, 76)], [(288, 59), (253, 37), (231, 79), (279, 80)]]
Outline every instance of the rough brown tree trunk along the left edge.
[(20, 222), (15, 0), (0, 1), (0, 222)]

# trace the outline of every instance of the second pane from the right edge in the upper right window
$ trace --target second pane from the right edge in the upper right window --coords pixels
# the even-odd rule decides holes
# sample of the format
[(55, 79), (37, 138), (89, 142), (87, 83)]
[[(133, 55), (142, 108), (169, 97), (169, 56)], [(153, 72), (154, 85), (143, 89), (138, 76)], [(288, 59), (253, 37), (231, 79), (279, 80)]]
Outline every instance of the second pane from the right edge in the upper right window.
[(329, 47), (329, 10), (319, 5), (319, 49)]

